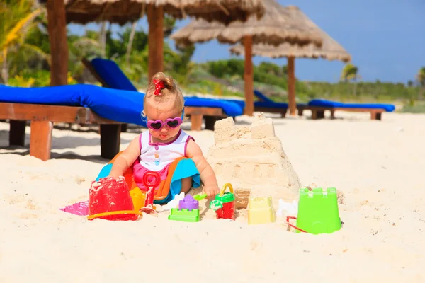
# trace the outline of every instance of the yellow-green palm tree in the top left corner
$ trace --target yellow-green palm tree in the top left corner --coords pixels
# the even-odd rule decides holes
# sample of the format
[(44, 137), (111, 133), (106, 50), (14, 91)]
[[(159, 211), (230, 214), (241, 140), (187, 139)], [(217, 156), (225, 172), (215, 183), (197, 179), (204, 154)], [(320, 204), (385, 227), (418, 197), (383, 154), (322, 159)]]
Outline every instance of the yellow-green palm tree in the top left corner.
[[(33, 0), (6, 0), (0, 3), (0, 62), (1, 79), (8, 82), (8, 52), (18, 45), (31, 48), (24, 44), (26, 33), (33, 20), (42, 13), (41, 8), (34, 7)], [(32, 48), (35, 52), (36, 47)]]

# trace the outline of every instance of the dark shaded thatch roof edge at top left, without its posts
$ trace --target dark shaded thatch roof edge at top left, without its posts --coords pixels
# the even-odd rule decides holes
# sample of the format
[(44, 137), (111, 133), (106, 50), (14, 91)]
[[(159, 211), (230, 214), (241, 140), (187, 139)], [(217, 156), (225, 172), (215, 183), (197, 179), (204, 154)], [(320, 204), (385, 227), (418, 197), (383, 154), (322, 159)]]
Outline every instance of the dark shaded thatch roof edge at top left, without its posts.
[[(47, 0), (39, 0), (45, 2)], [(55, 0), (56, 1), (56, 0)], [(137, 21), (147, 5), (163, 6), (173, 18), (193, 16), (206, 21), (246, 21), (251, 15), (263, 16), (262, 0), (64, 0), (67, 23), (86, 24), (109, 21), (124, 25)]]

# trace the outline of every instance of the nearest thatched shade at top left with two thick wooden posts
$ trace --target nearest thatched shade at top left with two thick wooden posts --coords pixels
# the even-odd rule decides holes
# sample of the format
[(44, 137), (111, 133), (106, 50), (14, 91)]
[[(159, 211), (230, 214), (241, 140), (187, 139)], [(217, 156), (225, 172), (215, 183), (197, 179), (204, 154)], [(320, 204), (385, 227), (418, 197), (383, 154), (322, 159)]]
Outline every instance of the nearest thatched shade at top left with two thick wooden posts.
[(146, 11), (149, 23), (149, 78), (164, 69), (164, 13), (174, 18), (194, 16), (207, 21), (246, 21), (263, 16), (261, 0), (39, 0), (46, 3), (52, 53), (51, 84), (67, 83), (66, 23), (109, 21), (123, 25)]

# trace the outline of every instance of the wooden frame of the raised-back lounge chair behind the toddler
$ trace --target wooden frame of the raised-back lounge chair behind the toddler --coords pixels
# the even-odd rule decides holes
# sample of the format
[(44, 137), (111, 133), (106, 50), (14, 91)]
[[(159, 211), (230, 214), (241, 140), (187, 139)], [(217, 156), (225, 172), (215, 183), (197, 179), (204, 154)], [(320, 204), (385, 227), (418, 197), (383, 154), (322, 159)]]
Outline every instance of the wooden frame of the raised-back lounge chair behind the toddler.
[[(104, 81), (101, 76), (96, 73), (93, 64), (86, 58), (82, 59), (84, 66), (93, 74), (96, 80), (102, 84), (103, 87), (108, 88), (108, 83)], [(222, 108), (215, 107), (185, 107), (186, 117), (191, 117), (191, 130), (200, 131), (202, 129), (202, 122), (205, 119), (205, 129), (214, 130), (215, 121), (228, 117), (223, 112)], [(128, 124), (121, 126), (121, 131), (127, 131)]]

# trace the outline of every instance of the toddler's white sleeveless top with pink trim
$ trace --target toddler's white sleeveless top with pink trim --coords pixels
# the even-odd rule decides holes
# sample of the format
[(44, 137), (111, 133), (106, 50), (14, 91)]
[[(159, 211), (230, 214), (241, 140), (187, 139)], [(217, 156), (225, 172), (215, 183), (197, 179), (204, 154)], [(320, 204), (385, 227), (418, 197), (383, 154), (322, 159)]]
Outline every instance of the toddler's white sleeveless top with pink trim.
[(193, 137), (180, 130), (176, 138), (167, 144), (152, 143), (150, 132), (142, 132), (139, 140), (140, 164), (150, 171), (160, 171), (177, 158), (188, 157), (187, 147), (190, 139)]

